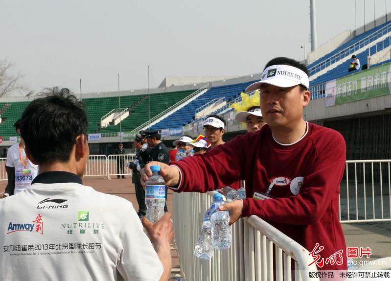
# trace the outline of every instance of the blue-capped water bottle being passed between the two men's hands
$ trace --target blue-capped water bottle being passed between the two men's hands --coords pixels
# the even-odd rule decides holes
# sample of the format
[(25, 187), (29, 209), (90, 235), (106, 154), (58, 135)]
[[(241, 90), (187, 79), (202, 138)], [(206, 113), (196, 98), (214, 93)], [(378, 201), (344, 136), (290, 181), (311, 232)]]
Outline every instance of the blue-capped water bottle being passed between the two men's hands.
[(158, 221), (164, 214), (165, 183), (160, 173), (160, 166), (150, 167), (152, 177), (145, 183), (145, 205), (147, 206), (146, 217), (150, 222)]

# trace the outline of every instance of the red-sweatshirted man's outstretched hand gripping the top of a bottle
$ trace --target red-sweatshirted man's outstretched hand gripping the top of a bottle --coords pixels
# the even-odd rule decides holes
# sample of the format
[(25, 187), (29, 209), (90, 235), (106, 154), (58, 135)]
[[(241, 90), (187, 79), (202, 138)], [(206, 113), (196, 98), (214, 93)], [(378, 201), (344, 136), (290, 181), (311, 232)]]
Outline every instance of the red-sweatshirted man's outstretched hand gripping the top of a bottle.
[(169, 166), (161, 162), (150, 162), (145, 165), (144, 168), (140, 170), (141, 173), (141, 185), (144, 187), (145, 182), (148, 181), (149, 177), (152, 177), (152, 171), (150, 166), (159, 165), (160, 166), (160, 175), (163, 177), (166, 186), (175, 187), (179, 185), (180, 174), (179, 170), (176, 167)]

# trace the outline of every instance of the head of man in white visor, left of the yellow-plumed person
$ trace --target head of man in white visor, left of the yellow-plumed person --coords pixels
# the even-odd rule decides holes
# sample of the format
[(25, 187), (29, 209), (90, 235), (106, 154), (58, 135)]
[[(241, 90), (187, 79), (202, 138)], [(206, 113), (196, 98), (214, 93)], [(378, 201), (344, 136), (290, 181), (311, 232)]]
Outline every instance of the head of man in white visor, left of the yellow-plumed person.
[(217, 115), (213, 114), (207, 117), (202, 127), (207, 141), (210, 142), (210, 149), (224, 143), (223, 135), (226, 125), (226, 121)]

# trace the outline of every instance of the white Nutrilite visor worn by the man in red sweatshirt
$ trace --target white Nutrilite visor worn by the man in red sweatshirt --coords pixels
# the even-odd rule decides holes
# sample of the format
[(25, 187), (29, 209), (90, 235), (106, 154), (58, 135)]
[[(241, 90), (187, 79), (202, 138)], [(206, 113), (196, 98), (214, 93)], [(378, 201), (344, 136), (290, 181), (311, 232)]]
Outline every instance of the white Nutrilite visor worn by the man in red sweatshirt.
[(307, 89), (310, 84), (308, 75), (303, 70), (293, 66), (274, 65), (263, 70), (261, 80), (247, 87), (246, 92), (257, 90), (264, 83), (282, 88), (289, 88), (301, 84)]

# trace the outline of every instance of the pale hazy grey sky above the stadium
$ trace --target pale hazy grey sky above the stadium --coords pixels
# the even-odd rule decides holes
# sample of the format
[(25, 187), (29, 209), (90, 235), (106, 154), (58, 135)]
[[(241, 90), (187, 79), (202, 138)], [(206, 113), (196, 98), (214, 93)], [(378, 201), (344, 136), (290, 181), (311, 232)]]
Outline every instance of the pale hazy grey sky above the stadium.
[[(318, 46), (354, 29), (354, 0), (317, 0)], [(366, 22), (373, 0), (366, 0)], [(356, 0), (356, 26), (364, 0)], [(386, 0), (375, 0), (375, 15)], [(391, 1), (387, 0), (387, 10)], [(310, 49), (309, 0), (1, 0), (0, 58), (31, 90), (157, 87), (165, 76), (247, 75)]]

